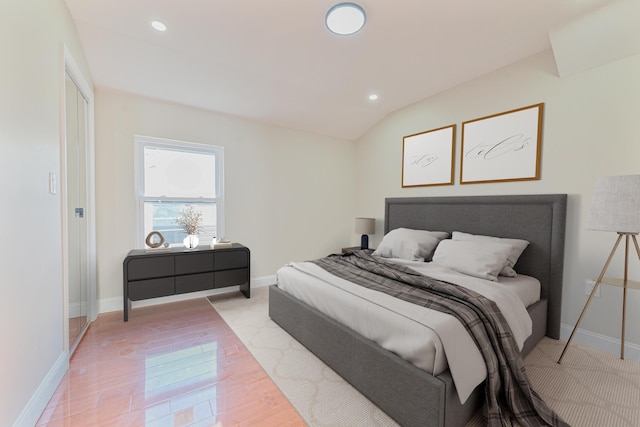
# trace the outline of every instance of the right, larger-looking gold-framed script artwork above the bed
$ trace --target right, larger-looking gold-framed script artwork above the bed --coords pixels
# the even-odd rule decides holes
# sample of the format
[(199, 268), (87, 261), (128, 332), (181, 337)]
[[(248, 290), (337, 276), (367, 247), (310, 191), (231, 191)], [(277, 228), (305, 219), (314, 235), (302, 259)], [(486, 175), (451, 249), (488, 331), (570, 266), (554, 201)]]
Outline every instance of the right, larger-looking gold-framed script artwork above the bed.
[(463, 122), (460, 184), (540, 179), (543, 106)]

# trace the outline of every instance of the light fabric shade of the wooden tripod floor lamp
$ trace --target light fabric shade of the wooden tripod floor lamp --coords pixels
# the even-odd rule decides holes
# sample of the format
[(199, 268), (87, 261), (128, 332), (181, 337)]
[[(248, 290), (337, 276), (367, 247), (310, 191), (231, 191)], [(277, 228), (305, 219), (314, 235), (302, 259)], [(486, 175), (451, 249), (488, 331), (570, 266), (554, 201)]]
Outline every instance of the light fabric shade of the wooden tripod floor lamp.
[(617, 233), (639, 233), (640, 175), (599, 178), (587, 228)]

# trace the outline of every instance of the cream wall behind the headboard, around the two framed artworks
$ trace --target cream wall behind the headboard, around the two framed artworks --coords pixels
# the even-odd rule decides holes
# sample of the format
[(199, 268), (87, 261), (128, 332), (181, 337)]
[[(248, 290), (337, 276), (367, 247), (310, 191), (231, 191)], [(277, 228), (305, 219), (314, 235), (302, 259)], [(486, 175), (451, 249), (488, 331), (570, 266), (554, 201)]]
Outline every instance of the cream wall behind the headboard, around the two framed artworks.
[[(598, 177), (640, 174), (640, 55), (559, 78), (551, 51), (490, 73), (395, 112), (357, 143), (357, 194), (362, 215), (379, 219), (372, 246), (382, 238), (385, 197), (529, 193), (569, 195), (562, 321), (573, 326), (586, 296), (585, 280), (597, 277), (616, 235), (585, 230)], [(428, 78), (428, 76), (426, 76)], [(463, 121), (544, 102), (539, 181), (459, 184)], [(401, 188), (402, 137), (457, 124), (453, 186)], [(640, 280), (640, 261), (630, 258)], [(609, 276), (622, 274), (621, 253)], [(621, 295), (605, 286), (581, 328), (619, 339)], [(640, 344), (640, 292), (629, 292), (627, 339)]]

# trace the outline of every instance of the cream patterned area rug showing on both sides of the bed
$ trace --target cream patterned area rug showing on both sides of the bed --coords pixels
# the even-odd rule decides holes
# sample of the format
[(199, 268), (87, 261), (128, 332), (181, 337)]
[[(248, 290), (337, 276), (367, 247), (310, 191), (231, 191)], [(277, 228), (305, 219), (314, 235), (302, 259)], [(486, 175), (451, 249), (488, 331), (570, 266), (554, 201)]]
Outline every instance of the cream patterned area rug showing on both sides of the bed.
[[(209, 297), (310, 426), (397, 426), (269, 318), (268, 288)], [(534, 390), (574, 427), (640, 426), (640, 362), (543, 339), (525, 359)], [(480, 414), (467, 427), (483, 426)]]

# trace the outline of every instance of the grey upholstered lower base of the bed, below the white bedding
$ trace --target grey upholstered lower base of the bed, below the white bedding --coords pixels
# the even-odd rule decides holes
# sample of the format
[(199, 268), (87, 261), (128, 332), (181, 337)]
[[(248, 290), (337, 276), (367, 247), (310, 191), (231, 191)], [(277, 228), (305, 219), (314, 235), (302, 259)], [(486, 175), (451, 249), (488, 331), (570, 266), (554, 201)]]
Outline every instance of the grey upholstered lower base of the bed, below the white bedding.
[(433, 377), (276, 285), (269, 316), (402, 426), (461, 426), (483, 403), (482, 385), (462, 405), (449, 371)]

